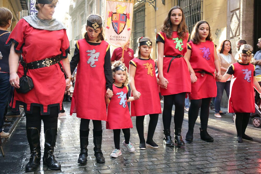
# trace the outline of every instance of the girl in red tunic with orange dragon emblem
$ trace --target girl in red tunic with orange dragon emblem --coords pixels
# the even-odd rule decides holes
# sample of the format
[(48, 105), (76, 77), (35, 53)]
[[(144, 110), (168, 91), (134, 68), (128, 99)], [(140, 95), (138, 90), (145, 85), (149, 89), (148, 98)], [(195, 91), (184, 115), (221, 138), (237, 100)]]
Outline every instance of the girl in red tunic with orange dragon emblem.
[[(130, 61), (129, 70), (132, 96), (135, 99), (135, 101), (131, 102), (131, 116), (137, 116), (136, 127), (140, 138), (139, 148), (146, 149), (143, 122), (145, 115), (150, 115), (146, 144), (158, 148), (159, 146), (152, 138), (158, 123), (159, 113), (161, 113), (161, 103), (155, 74), (155, 62), (150, 57), (152, 43), (149, 38), (143, 37), (138, 39), (138, 43), (137, 58)], [(167, 86), (167, 83), (164, 86)]]

